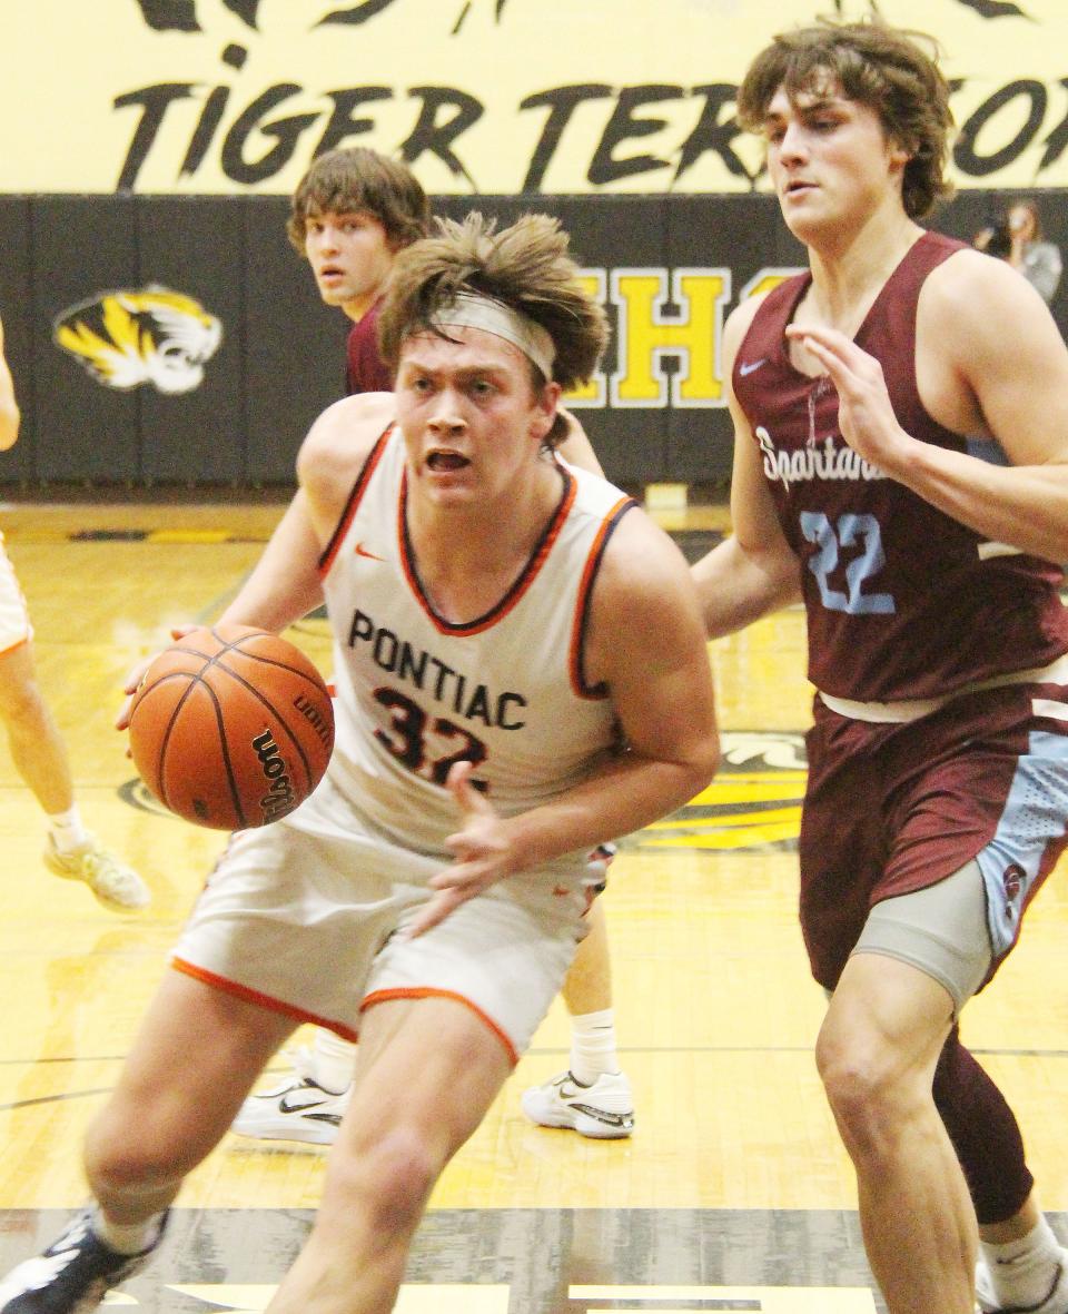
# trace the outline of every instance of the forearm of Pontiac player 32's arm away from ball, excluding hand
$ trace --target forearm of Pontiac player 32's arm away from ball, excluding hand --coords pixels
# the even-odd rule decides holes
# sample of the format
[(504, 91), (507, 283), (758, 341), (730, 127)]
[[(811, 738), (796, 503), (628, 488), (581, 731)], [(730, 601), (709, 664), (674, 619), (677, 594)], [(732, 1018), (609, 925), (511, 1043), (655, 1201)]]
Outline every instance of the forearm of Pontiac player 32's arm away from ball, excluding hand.
[(504, 823), (520, 867), (617, 840), (683, 807), (708, 784), (719, 766), (715, 733), (695, 742), (682, 761), (653, 761), (627, 753), (598, 775), (552, 803)]

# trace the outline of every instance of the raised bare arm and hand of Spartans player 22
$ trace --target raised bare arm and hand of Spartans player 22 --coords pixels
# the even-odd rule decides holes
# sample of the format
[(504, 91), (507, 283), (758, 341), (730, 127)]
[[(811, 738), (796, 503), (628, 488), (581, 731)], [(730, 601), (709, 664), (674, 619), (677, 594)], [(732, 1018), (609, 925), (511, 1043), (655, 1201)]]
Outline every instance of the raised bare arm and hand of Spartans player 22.
[(917, 313), (917, 369), (933, 380), (935, 419), (997, 439), (1010, 466), (912, 438), (878, 360), (832, 328), (788, 331), (825, 365), (842, 436), (866, 460), (984, 537), (1068, 561), (1068, 350), (1015, 271), (960, 251), (930, 275)]

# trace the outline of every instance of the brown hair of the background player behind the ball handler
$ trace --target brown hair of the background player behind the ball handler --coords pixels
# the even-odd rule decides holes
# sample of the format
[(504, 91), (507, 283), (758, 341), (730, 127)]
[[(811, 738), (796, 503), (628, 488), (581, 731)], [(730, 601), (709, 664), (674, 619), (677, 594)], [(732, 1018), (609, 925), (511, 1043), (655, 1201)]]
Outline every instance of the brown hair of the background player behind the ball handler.
[(395, 247), (430, 233), (430, 201), (407, 166), (365, 146), (326, 151), (297, 184), (286, 233), (303, 255), (307, 221), (321, 214), (370, 214)]

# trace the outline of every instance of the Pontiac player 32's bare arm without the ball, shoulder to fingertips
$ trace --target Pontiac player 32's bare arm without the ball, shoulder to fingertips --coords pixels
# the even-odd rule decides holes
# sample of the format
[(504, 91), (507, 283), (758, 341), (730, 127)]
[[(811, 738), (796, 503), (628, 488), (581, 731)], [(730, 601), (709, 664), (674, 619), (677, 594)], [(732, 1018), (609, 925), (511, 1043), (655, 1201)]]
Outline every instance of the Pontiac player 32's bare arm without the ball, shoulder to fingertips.
[(719, 763), (712, 671), (696, 591), (671, 540), (628, 512), (602, 560), (586, 645), (587, 683), (604, 683), (625, 752), (552, 803), (501, 817), (453, 767), (461, 825), (452, 866), (414, 934), (495, 880), (637, 830), (687, 803)]

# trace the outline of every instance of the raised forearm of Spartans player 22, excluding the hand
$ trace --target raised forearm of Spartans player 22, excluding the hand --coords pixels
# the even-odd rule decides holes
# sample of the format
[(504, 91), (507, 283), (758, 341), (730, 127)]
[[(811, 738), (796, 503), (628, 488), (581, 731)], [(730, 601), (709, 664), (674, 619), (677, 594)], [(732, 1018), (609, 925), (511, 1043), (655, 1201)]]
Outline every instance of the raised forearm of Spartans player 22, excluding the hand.
[(992, 465), (917, 442), (895, 477), (984, 539), (1068, 561), (1068, 464)]

